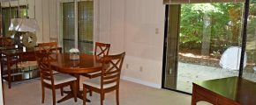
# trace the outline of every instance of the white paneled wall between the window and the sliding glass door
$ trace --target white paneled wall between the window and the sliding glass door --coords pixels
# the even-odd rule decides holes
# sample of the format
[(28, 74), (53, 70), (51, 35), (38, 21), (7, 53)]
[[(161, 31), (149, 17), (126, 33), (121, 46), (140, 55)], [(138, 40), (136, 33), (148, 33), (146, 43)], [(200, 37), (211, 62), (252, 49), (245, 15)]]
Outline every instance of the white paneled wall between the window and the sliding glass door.
[(101, 1), (100, 41), (126, 52), (123, 79), (161, 88), (164, 11), (161, 0)]

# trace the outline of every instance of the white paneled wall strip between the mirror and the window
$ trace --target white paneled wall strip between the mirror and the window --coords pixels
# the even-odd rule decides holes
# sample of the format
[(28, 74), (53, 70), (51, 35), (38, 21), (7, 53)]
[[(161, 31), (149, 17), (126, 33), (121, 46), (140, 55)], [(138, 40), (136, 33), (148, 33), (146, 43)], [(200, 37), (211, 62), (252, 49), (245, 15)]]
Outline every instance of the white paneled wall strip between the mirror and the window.
[(58, 0), (35, 0), (35, 19), (40, 27), (36, 32), (38, 43), (59, 41), (58, 8)]

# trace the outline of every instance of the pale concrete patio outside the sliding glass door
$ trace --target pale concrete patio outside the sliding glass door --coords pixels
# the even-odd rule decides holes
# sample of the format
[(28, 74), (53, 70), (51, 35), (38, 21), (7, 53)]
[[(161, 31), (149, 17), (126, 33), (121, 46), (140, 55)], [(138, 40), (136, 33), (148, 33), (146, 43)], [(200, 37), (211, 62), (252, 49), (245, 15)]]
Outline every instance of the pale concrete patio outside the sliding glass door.
[[(206, 81), (238, 75), (238, 71), (228, 71), (221, 67), (201, 66), (182, 62), (178, 63), (177, 71), (177, 90), (187, 93), (192, 93), (193, 81)], [(244, 72), (243, 77), (250, 81), (256, 81), (255, 73)]]

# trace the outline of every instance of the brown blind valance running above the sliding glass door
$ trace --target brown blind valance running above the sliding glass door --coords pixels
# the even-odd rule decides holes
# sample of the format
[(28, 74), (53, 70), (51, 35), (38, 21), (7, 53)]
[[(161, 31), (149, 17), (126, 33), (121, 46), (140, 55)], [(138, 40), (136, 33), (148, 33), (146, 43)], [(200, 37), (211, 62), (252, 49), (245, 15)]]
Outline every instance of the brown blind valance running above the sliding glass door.
[(163, 4), (236, 3), (245, 0), (163, 0)]

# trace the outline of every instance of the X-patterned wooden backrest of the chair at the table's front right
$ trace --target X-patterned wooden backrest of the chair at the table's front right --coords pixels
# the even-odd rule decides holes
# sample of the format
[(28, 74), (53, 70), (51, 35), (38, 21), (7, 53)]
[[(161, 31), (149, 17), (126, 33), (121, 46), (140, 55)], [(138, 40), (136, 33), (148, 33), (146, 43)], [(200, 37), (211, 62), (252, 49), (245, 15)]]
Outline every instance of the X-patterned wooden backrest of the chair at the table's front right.
[(123, 66), (125, 52), (117, 55), (104, 55), (102, 58), (101, 88), (104, 85), (115, 84), (119, 87), (120, 74)]

